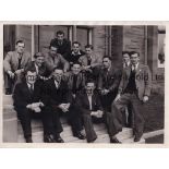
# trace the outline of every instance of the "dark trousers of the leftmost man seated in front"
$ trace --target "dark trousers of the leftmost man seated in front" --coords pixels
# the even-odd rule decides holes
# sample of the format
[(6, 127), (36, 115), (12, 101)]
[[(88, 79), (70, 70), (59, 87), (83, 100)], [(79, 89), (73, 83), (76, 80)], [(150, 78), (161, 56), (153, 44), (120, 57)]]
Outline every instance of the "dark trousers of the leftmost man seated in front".
[(34, 112), (32, 110), (28, 110), (27, 108), (23, 109), (16, 108), (16, 112), (23, 129), (24, 137), (25, 138), (31, 137), (32, 136), (31, 121), (33, 118), (40, 118), (41, 113)]

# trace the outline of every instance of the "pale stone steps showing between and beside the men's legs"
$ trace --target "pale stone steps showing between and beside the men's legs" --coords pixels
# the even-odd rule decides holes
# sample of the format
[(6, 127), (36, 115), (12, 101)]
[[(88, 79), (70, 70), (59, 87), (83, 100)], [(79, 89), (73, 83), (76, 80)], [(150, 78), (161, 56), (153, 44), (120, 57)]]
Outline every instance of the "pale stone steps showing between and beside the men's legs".
[[(3, 121), (7, 122), (7, 119), (13, 119), (13, 122), (7, 123), (4, 126), (4, 132), (11, 133), (14, 130), (16, 130), (16, 141), (17, 143), (25, 143), (23, 131), (20, 121), (16, 119), (15, 111), (13, 109), (13, 100), (11, 96), (3, 96)], [(12, 116), (11, 116), (12, 114)], [(5, 120), (4, 120), (5, 119)], [(71, 126), (67, 123), (65, 119), (61, 119), (61, 123), (63, 126), (63, 132), (61, 133), (61, 137), (64, 140), (65, 143), (86, 143), (86, 140), (79, 140), (77, 137), (74, 137), (72, 135)], [(13, 124), (13, 125), (12, 125)], [(10, 128), (9, 128), (10, 126)], [(109, 135), (107, 134), (107, 129), (104, 123), (94, 124), (94, 129), (97, 134), (97, 140), (95, 141), (96, 144), (98, 143), (110, 143)], [(85, 131), (82, 131), (85, 134)], [(34, 143), (44, 143), (43, 142), (43, 123), (40, 120), (34, 120), (32, 121), (32, 135), (33, 135), (33, 142)], [(3, 133), (5, 135), (5, 133)], [(122, 132), (120, 132), (117, 135), (118, 140), (120, 140), (124, 144), (132, 144), (133, 143), (133, 131), (132, 129), (123, 128)], [(8, 134), (8, 140), (3, 140), (4, 142), (11, 142), (10, 141), (10, 134)], [(145, 140), (142, 138), (138, 144), (145, 143)], [(135, 143), (134, 143), (135, 144)]]

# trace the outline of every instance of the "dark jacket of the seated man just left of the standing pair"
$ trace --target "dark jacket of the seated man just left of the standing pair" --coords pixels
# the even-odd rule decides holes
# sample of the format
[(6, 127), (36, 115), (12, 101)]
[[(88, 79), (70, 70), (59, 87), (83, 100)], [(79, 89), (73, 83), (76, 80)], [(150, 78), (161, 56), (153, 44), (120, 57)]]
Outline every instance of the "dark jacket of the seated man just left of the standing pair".
[(110, 68), (110, 71), (102, 69), (98, 77), (98, 89), (109, 89), (114, 92), (118, 89), (121, 80), (121, 71)]

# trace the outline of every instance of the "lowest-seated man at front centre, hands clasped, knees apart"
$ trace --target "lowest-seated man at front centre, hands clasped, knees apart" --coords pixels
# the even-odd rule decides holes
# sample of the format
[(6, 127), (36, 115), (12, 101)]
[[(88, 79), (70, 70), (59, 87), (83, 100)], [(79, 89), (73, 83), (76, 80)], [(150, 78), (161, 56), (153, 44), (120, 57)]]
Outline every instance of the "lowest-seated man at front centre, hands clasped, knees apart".
[(93, 122), (105, 122), (110, 136), (110, 142), (114, 143), (111, 138), (113, 132), (112, 116), (110, 112), (102, 111), (100, 98), (95, 88), (95, 82), (92, 80), (87, 81), (85, 90), (79, 93), (75, 98), (76, 109), (83, 117), (87, 142), (93, 143), (97, 138)]

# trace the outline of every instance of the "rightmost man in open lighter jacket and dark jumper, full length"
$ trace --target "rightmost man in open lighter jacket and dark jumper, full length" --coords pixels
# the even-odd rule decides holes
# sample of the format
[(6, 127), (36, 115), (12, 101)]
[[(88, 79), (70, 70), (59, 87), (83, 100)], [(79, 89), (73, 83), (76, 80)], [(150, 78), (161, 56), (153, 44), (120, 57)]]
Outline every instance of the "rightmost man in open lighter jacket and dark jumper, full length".
[(131, 52), (131, 67), (123, 70), (119, 94), (111, 105), (113, 117), (113, 138), (122, 130), (121, 109), (131, 104), (134, 116), (134, 142), (138, 142), (144, 131), (144, 104), (148, 101), (152, 88), (152, 74), (147, 65), (140, 63), (140, 53)]

